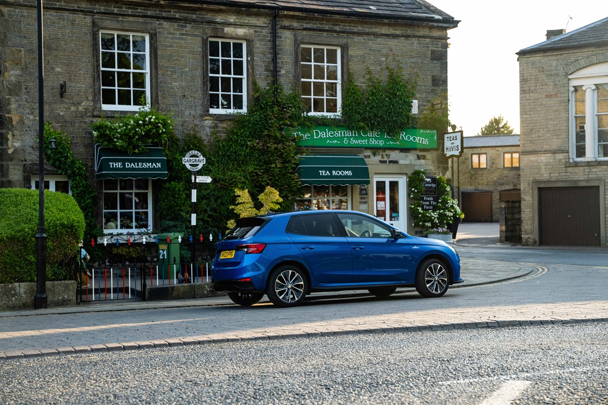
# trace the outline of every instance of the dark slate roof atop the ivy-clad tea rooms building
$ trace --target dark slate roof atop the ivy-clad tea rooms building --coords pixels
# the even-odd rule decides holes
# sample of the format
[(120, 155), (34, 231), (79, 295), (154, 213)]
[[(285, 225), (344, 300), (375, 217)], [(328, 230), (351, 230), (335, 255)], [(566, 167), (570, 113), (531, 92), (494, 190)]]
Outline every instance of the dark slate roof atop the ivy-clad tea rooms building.
[(451, 15), (424, 0), (200, 0), (201, 4), (253, 7), (360, 18), (404, 19), (458, 26)]

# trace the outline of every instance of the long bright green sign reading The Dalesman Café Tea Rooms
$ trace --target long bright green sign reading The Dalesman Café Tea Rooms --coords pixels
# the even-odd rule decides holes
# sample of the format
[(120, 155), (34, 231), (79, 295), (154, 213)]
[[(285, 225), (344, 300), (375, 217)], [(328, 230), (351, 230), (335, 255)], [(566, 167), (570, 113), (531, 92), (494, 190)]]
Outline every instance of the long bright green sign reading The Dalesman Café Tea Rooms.
[(291, 132), (298, 146), (317, 148), (437, 149), (435, 129), (403, 129), (398, 138), (385, 131), (354, 131), (345, 127), (300, 127)]

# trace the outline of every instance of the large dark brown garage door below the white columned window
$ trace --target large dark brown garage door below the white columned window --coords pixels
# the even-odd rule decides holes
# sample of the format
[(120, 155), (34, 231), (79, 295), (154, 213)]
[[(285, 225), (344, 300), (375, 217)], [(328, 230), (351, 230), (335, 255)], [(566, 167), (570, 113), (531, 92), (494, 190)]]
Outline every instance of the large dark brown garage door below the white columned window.
[(539, 188), (541, 245), (599, 246), (599, 187)]

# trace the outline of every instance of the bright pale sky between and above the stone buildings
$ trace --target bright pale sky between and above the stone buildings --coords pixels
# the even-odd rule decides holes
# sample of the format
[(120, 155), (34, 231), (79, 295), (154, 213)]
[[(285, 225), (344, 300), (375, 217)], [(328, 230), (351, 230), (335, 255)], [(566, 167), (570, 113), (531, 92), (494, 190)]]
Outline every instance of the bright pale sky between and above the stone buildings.
[(477, 135), (502, 115), (520, 133), (516, 52), (539, 44), (547, 30), (572, 32), (608, 17), (607, 0), (427, 0), (460, 20), (447, 32), (450, 121)]

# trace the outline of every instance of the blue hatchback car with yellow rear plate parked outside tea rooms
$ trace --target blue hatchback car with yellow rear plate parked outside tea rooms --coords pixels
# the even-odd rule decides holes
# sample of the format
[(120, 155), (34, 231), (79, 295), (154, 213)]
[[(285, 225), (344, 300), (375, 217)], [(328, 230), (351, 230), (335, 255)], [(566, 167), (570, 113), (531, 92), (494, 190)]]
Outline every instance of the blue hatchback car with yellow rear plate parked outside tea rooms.
[(440, 297), (462, 282), (460, 257), (447, 243), (410, 236), (356, 211), (297, 211), (241, 218), (216, 243), (215, 290), (252, 305), (266, 294), (278, 307), (315, 291), (368, 290), (387, 297), (415, 287)]

